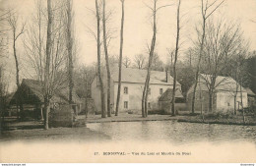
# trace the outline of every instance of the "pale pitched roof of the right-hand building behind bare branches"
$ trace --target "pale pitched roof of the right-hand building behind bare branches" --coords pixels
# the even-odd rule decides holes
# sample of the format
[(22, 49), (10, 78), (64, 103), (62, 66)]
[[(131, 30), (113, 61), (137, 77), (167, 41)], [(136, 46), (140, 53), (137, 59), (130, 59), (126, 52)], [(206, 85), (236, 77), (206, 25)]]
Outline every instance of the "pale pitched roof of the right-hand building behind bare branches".
[[(207, 91), (209, 84), (211, 83), (212, 75), (205, 75), (201, 74), (198, 80), (198, 86), (197, 90), (201, 88), (203, 91)], [(232, 78), (230, 77), (223, 77), (223, 76), (218, 76), (216, 78), (216, 83), (215, 83), (215, 90), (217, 91), (236, 91), (236, 86), (239, 83), (236, 83)], [(191, 86), (191, 88), (188, 90), (188, 93), (192, 92), (194, 84)], [(240, 91), (240, 88), (237, 89)], [(242, 91), (245, 91), (245, 89), (242, 87)]]

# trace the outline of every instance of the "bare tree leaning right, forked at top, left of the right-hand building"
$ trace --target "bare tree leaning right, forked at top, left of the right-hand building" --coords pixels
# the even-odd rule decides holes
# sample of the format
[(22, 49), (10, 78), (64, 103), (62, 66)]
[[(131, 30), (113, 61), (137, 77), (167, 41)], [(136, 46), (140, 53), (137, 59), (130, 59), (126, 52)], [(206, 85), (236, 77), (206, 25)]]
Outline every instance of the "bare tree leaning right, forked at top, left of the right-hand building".
[(214, 12), (224, 3), (224, 0), (218, 2), (215, 0), (212, 3), (209, 3), (208, 0), (201, 0), (201, 17), (202, 17), (202, 29), (201, 32), (197, 29), (198, 38), (199, 38), (199, 57), (196, 67), (196, 74), (195, 74), (195, 84), (193, 89), (193, 97), (192, 97), (192, 113), (195, 113), (195, 98), (196, 98), (196, 88), (198, 83), (199, 71), (200, 71), (200, 64), (201, 64), (201, 57), (203, 55), (204, 43), (205, 43), (205, 31), (206, 31), (206, 22), (210, 16), (214, 14)]

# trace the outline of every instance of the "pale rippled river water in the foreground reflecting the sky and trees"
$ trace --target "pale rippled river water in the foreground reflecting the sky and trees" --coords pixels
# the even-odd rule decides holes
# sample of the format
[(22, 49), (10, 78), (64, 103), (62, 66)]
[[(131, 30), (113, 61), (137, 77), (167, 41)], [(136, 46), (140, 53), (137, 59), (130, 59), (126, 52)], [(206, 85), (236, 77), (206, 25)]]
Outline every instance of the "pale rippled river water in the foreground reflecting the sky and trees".
[(112, 122), (88, 124), (113, 140), (170, 141), (176, 144), (211, 141), (250, 141), (256, 144), (256, 126), (178, 123), (176, 121)]

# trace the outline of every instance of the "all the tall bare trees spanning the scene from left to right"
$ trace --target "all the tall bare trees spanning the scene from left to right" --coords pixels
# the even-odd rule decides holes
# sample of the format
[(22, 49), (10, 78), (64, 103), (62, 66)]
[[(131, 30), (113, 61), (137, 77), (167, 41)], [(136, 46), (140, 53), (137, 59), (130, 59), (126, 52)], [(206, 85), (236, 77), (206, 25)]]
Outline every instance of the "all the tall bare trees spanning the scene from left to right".
[[(17, 41), (23, 37), (23, 47), (25, 48), (28, 63), (34, 71), (34, 76), (41, 83), (41, 91), (44, 96), (44, 110), (45, 110), (45, 129), (48, 128), (48, 112), (49, 102), (55, 92), (68, 84), (69, 87), (69, 102), (73, 103), (73, 91), (76, 80), (76, 73), (81, 73), (80, 80), (83, 83), (77, 83), (78, 86), (86, 87), (86, 94), (81, 93), (81, 96), (90, 96), (90, 84), (93, 82), (94, 74), (99, 79), (100, 83), (100, 100), (101, 100), (101, 117), (105, 118), (111, 116), (110, 113), (110, 66), (118, 64), (118, 91), (116, 101), (116, 112), (118, 115), (120, 90), (121, 90), (121, 71), (122, 66), (126, 68), (134, 67), (138, 69), (147, 70), (147, 78), (145, 80), (144, 89), (142, 93), (142, 116), (148, 116), (148, 91), (151, 79), (152, 70), (170, 70), (173, 76), (173, 93), (171, 110), (172, 115), (175, 115), (175, 90), (176, 82), (182, 84), (182, 90), (186, 92), (188, 88), (195, 83), (193, 92), (192, 113), (194, 113), (195, 93), (200, 73), (204, 71), (210, 74), (211, 82), (209, 83), (210, 105), (212, 110), (213, 94), (216, 89), (216, 79), (220, 75), (232, 76), (240, 84), (244, 84), (244, 77), (240, 77), (242, 68), (244, 68), (244, 61), (246, 60), (247, 48), (245, 40), (242, 37), (240, 27), (236, 24), (229, 24), (224, 17), (221, 20), (214, 19), (214, 14), (222, 6), (224, 0), (215, 0), (210, 3), (208, 0), (201, 0), (200, 13), (201, 20), (198, 22), (195, 31), (197, 32), (197, 40), (193, 41), (193, 45), (185, 51), (188, 63), (179, 60), (180, 55), (180, 36), (182, 34), (180, 14), (181, 0), (177, 0), (176, 4), (176, 34), (175, 45), (168, 49), (168, 56), (170, 62), (164, 64), (160, 61), (160, 56), (156, 52), (156, 42), (158, 36), (157, 18), (159, 17), (160, 9), (173, 6), (174, 4), (159, 5), (160, 0), (153, 0), (151, 5), (146, 6), (151, 11), (152, 16), (152, 39), (151, 44), (148, 44), (148, 55), (135, 55), (132, 62), (128, 57), (123, 57), (123, 32), (124, 32), (124, 9), (125, 1), (120, 0), (122, 9), (120, 22), (120, 46), (119, 55), (110, 56), (108, 45), (112, 38), (112, 30), (109, 26), (109, 20), (112, 12), (107, 9), (105, 0), (96, 0), (96, 10), (94, 10), (96, 18), (96, 32), (90, 29), (90, 32), (96, 38), (96, 68), (82, 68), (79, 72), (74, 72), (74, 60), (76, 59), (77, 46), (74, 35), (74, 17), (72, 1), (65, 0), (47, 0), (47, 3), (42, 3), (41, 0), (35, 1), (36, 14), (32, 20), (23, 24), (19, 22), (19, 17), (13, 11), (9, 11), (1, 15), (0, 21), (7, 23), (8, 28), (12, 34), (12, 53), (16, 64), (16, 83), (17, 88), (20, 86), (20, 62), (19, 53), (17, 52)], [(0, 31), (1, 36), (3, 31)], [(1, 38), (1, 50), (4, 49), (3, 38)], [(103, 50), (104, 62), (101, 62), (101, 51)], [(2, 52), (2, 51), (1, 51)], [(104, 65), (102, 65), (104, 64)], [(228, 64), (228, 65), (227, 65)], [(237, 68), (239, 67), (239, 68)], [(102, 71), (106, 69), (106, 85), (102, 81)], [(96, 69), (96, 70), (95, 70)], [(94, 71), (94, 72), (93, 72)], [(253, 74), (252, 74), (253, 75)], [(82, 76), (82, 77), (81, 77)], [(106, 108), (105, 108), (105, 93), (106, 87)], [(18, 94), (18, 98), (19, 98)], [(18, 99), (20, 109), (23, 109), (22, 98)]]

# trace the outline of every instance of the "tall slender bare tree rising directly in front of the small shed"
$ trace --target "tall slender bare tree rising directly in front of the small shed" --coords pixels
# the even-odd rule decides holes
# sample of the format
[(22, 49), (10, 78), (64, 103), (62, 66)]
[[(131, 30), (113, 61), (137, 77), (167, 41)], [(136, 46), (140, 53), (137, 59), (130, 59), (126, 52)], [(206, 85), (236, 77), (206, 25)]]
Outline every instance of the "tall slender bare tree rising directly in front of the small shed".
[(178, 51), (179, 51), (179, 33), (180, 33), (180, 4), (181, 0), (178, 1), (177, 4), (177, 28), (176, 28), (176, 47), (175, 47), (175, 54), (174, 54), (174, 63), (173, 63), (173, 88), (172, 88), (172, 97), (171, 97), (171, 115), (175, 116), (175, 92), (176, 92), (176, 63), (178, 58)]

